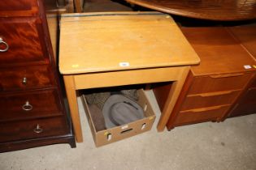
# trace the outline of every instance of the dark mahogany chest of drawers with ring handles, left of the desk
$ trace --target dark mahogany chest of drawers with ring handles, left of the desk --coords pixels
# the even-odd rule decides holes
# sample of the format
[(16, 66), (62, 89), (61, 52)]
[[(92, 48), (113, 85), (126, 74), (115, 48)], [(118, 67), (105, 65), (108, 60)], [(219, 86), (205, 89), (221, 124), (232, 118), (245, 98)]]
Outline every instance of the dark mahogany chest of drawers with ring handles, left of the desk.
[(76, 147), (42, 2), (0, 3), (0, 152)]

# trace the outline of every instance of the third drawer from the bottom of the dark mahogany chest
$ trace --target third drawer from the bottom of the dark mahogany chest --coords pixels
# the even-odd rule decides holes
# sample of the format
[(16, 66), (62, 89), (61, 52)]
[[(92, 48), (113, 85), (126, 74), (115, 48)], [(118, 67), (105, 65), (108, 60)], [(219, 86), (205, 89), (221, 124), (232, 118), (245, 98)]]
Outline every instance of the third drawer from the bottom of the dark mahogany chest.
[(50, 65), (0, 70), (0, 91), (28, 90), (55, 85)]

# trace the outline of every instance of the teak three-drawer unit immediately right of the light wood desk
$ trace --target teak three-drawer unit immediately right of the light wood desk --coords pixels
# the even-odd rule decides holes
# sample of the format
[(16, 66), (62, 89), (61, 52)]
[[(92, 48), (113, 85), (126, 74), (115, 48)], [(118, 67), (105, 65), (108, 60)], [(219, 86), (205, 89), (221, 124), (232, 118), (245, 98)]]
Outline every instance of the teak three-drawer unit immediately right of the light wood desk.
[[(201, 63), (191, 67), (167, 123), (168, 130), (202, 121), (223, 121), (256, 70), (254, 59), (228, 28), (181, 30)], [(154, 89), (160, 104), (165, 100), (161, 88)]]

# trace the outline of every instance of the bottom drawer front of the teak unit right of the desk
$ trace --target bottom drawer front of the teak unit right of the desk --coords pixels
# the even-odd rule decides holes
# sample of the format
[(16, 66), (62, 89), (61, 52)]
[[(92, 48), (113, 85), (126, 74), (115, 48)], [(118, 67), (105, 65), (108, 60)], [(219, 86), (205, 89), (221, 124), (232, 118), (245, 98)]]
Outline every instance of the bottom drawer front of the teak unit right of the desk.
[(229, 106), (220, 106), (206, 109), (194, 109), (180, 112), (175, 125), (199, 123), (202, 121), (216, 121), (228, 111)]

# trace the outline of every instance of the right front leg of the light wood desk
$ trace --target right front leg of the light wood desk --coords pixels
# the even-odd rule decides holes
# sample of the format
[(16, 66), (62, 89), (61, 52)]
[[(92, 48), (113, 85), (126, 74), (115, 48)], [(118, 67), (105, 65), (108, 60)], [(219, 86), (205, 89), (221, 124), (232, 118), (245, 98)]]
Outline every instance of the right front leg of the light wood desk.
[(171, 90), (169, 91), (167, 100), (163, 106), (163, 112), (161, 114), (160, 120), (158, 121), (158, 132), (162, 132), (165, 126), (167, 125), (167, 121), (169, 120), (172, 109), (174, 108), (176, 100), (180, 95), (180, 91), (183, 87), (184, 81), (187, 78), (187, 75), (189, 74), (189, 68), (189, 66), (184, 66), (184, 69), (180, 72), (179, 79), (177, 79), (171, 85)]

